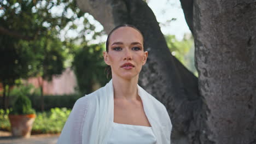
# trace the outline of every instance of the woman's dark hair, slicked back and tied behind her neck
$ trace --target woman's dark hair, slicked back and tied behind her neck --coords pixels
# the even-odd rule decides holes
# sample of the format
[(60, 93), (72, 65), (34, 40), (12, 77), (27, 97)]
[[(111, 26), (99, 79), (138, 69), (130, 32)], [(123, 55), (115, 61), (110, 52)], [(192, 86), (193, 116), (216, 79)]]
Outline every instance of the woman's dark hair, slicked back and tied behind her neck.
[[(111, 34), (112, 34), (115, 30), (117, 30), (118, 28), (120, 28), (120, 27), (131, 27), (131, 28), (136, 29), (139, 33), (141, 33), (141, 35), (142, 35), (142, 40), (143, 40), (143, 43), (144, 43), (143, 34), (142, 34), (141, 31), (139, 31), (138, 28), (136, 28), (135, 26), (132, 26), (132, 25), (123, 24), (123, 25), (119, 25), (119, 26), (113, 28), (112, 31), (110, 31), (110, 33), (108, 34), (108, 38), (107, 38), (107, 41), (106, 41), (106, 51), (107, 51), (107, 52), (108, 52), (109, 38), (110, 38)], [(111, 73), (111, 67), (110, 67), (110, 65), (107, 65), (107, 67), (106, 67), (105, 70), (106, 70), (106, 73), (107, 73), (107, 78), (108, 78), (109, 75), (110, 75), (110, 77), (111, 77), (112, 73)]]

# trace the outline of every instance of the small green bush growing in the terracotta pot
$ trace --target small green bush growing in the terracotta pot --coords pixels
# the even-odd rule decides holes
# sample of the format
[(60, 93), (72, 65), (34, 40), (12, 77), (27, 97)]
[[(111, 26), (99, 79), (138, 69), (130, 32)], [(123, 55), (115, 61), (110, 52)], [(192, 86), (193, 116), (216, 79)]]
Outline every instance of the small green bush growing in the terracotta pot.
[(32, 109), (31, 101), (27, 98), (26, 95), (20, 94), (16, 99), (13, 109), (10, 111), (10, 114), (13, 115), (27, 115), (36, 113), (34, 109)]

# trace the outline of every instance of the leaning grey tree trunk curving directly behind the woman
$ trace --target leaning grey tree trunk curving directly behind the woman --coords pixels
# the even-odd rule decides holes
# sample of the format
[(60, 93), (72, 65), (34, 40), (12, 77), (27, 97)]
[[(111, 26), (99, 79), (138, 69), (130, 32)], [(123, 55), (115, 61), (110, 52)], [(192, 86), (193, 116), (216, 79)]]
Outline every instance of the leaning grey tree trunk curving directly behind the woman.
[(138, 0), (77, 0), (78, 7), (101, 22), (109, 33), (122, 23), (136, 26), (144, 35), (144, 49), (149, 52), (139, 78), (140, 85), (167, 108), (173, 124), (172, 143), (189, 143), (199, 134), (202, 100), (197, 78), (168, 50), (153, 11)]

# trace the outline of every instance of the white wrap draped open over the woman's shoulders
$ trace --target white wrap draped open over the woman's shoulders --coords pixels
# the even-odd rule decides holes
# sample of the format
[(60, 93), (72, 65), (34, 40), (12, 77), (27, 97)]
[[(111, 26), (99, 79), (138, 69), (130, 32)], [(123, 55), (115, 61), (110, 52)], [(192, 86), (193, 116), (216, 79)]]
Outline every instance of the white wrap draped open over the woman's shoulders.
[[(165, 106), (143, 88), (137, 87), (157, 143), (171, 143), (172, 124)], [(75, 102), (57, 144), (107, 144), (113, 121), (114, 92), (110, 80), (106, 86)]]

